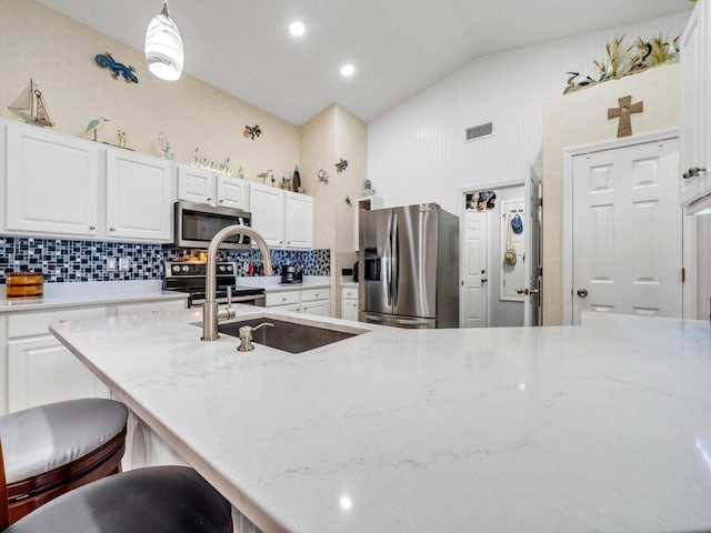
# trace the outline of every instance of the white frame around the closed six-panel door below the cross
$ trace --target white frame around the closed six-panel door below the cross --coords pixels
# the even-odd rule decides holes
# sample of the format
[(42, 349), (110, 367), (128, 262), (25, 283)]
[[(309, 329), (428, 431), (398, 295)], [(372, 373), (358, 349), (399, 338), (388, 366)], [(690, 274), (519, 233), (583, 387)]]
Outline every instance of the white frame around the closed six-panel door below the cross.
[[(563, 278), (562, 278), (562, 295), (563, 295), (563, 325), (573, 323), (573, 158), (591, 152), (601, 152), (607, 150), (615, 150), (619, 148), (629, 148), (637, 144), (648, 142), (660, 142), (668, 139), (678, 139), (679, 130), (670, 129), (654, 133), (645, 133), (641, 135), (627, 137), (623, 139), (614, 139), (584, 147), (574, 147), (563, 149), (563, 183), (562, 183), (562, 201), (563, 201)], [(697, 318), (697, 224), (693, 217), (687, 217), (681, 212), (682, 217), (682, 264), (688, 272), (693, 275), (687, 275), (687, 280), (682, 285), (682, 300), (684, 319)]]

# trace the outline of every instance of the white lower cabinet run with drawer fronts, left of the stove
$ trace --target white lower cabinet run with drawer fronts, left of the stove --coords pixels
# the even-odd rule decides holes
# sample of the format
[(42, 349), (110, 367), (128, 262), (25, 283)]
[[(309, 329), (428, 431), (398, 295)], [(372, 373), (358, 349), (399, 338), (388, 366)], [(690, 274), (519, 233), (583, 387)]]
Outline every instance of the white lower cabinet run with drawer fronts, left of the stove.
[(49, 332), (49, 324), (184, 306), (184, 300), (156, 300), (0, 315), (0, 368), (7, 369), (0, 414), (76, 398), (109, 396), (107, 386)]

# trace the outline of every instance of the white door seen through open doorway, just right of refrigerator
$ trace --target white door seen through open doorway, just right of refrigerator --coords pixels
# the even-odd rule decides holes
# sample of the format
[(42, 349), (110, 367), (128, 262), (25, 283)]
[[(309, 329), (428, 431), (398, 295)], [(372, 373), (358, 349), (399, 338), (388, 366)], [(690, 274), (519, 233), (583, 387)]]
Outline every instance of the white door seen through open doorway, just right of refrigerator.
[(485, 328), (488, 320), (489, 212), (464, 214), (464, 250), (462, 253), (462, 328)]

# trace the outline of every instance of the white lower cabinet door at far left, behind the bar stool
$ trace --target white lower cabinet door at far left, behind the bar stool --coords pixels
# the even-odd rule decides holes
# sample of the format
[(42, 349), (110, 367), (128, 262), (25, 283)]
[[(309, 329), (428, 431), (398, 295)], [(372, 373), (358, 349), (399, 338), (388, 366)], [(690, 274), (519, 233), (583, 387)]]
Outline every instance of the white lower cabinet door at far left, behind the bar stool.
[(8, 410), (76, 398), (109, 398), (109, 390), (51, 335), (8, 343)]

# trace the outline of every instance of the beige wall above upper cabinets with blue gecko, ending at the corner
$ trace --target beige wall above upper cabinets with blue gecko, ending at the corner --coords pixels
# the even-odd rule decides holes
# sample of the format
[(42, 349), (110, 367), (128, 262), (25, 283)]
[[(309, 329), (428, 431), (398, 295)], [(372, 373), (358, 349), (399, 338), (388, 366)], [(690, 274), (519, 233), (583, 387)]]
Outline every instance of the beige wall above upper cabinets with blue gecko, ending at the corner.
[[(99, 68), (93, 58), (104, 52), (134, 66), (139, 83), (113, 80)], [(57, 131), (80, 134), (101, 115), (110, 119), (100, 130), (101, 141), (116, 143), (121, 128), (130, 148), (158, 155), (158, 133), (164, 131), (178, 161), (189, 163), (199, 147), (210, 159), (229, 157), (234, 173), (243, 164), (249, 178), (268, 169), (277, 178), (291, 175), (299, 162), (296, 125), (190, 76), (159, 80), (149, 73), (142, 52), (34, 0), (0, 0), (0, 117), (17, 119), (7, 107), (32, 77)], [(263, 134), (244, 138), (246, 124), (259, 124)]]

